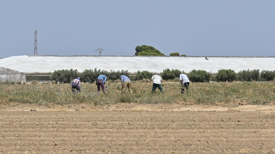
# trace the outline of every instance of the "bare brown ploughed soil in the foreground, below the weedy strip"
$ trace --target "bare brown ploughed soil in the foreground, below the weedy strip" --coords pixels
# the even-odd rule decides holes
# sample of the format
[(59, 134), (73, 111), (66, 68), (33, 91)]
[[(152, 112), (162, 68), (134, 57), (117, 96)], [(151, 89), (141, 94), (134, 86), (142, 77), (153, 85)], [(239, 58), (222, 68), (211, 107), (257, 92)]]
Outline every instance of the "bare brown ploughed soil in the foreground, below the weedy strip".
[(275, 105), (0, 107), (0, 153), (275, 153)]

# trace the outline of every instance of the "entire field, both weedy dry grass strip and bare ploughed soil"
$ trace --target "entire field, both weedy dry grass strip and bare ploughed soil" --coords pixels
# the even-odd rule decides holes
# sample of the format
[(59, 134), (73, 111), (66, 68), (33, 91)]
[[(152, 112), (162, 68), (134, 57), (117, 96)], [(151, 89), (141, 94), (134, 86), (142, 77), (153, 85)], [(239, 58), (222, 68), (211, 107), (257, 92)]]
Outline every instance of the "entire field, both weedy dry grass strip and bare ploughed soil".
[(275, 153), (273, 82), (108, 86), (1, 85), (0, 153)]

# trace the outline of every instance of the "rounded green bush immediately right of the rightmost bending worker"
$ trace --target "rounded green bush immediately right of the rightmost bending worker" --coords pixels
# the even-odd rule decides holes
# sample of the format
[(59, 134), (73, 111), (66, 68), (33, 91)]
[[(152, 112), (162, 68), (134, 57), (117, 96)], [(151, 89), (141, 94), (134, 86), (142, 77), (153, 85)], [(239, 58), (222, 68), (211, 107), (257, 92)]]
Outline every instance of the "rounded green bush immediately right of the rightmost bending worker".
[(204, 70), (192, 70), (188, 78), (192, 82), (209, 82), (211, 74)]

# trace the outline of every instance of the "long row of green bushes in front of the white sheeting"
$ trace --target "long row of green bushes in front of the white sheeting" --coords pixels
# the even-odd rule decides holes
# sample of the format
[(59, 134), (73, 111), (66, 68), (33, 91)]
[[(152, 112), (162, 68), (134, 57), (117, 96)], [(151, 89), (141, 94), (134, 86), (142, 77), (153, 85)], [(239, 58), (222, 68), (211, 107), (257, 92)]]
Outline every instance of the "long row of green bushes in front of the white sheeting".
[[(178, 78), (178, 74), (183, 71), (178, 69), (165, 69), (161, 72), (161, 76), (163, 80), (173, 80)], [(77, 70), (57, 70), (54, 71), (51, 76), (51, 80), (60, 83), (70, 83), (76, 77), (80, 77), (82, 82), (95, 82), (96, 78), (100, 75), (104, 74), (108, 77), (108, 80), (117, 80), (120, 79), (120, 75), (124, 74), (129, 76), (128, 71), (105, 71), (105, 70), (94, 70), (86, 69), (83, 72), (78, 72)], [(151, 79), (153, 76), (152, 72), (148, 71), (138, 71), (136, 76), (129, 76), (132, 81), (134, 80), (142, 80), (142, 79)], [(234, 72), (231, 69), (221, 69), (218, 70), (216, 76), (212, 76), (209, 72), (204, 70), (192, 70), (187, 73), (187, 76), (192, 82), (209, 82), (209, 81), (272, 81), (275, 78), (275, 71), (261, 71), (259, 70), (242, 70), (238, 73)]]

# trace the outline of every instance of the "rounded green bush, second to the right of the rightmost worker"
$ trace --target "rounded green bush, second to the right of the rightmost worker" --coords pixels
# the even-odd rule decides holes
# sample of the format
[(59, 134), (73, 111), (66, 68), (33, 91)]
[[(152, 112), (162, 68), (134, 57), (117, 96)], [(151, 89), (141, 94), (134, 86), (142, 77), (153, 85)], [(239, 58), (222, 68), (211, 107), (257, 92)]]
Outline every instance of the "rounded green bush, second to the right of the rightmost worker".
[(236, 73), (231, 69), (220, 69), (216, 75), (217, 81), (232, 82), (236, 79)]

